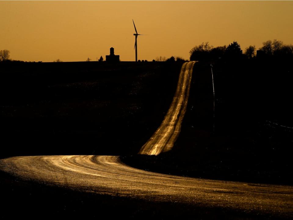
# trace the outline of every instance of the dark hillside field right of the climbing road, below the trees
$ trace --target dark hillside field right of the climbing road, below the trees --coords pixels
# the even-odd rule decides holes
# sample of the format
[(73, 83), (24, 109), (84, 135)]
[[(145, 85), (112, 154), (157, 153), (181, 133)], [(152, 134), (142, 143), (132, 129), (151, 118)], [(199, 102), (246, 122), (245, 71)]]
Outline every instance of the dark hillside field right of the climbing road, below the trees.
[[(188, 110), (172, 151), (122, 160), (150, 171), (293, 185), (292, 66), (280, 60), (194, 68)], [(215, 128), (213, 125), (215, 124)]]

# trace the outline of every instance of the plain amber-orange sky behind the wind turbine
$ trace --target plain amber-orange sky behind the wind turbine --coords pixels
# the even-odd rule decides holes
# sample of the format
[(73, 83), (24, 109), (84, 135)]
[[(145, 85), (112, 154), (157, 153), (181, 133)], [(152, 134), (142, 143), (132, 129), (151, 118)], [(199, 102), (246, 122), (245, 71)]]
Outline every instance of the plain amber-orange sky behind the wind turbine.
[(202, 42), (293, 44), (293, 1), (0, 1), (0, 50), (24, 61), (134, 61), (180, 56)]

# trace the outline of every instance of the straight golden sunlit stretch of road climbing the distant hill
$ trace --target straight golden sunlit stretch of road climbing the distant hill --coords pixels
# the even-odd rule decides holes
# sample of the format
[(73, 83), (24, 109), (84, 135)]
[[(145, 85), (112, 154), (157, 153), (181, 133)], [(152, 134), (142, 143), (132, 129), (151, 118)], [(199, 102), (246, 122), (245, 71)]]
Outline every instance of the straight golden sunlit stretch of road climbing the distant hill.
[(170, 108), (160, 127), (143, 145), (139, 154), (158, 155), (172, 149), (180, 133), (181, 123), (186, 112), (194, 63), (195, 61), (190, 61), (182, 65)]

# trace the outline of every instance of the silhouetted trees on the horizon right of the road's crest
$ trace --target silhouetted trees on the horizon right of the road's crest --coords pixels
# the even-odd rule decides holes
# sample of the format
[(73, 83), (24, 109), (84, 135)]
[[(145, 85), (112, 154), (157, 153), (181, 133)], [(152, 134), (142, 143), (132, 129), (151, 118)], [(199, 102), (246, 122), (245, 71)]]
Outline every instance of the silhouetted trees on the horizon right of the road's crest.
[(254, 58), (256, 56), (262, 58), (277, 57), (277, 58), (293, 58), (293, 45), (284, 44), (283, 41), (274, 39), (262, 43), (262, 47), (257, 50), (255, 45), (250, 45), (245, 48), (244, 53), (237, 41), (233, 41), (228, 46), (214, 47), (209, 42), (203, 42), (200, 45), (194, 46), (190, 50), (190, 60), (214, 60), (214, 59), (240, 59)]

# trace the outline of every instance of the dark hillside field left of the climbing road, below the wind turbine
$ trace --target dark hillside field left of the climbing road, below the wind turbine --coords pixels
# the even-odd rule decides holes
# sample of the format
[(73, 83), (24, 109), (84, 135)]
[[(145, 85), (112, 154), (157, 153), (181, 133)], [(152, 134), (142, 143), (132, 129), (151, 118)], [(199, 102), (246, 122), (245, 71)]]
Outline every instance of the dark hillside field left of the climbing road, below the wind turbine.
[(181, 64), (20, 63), (2, 73), (2, 157), (136, 154), (160, 125)]

